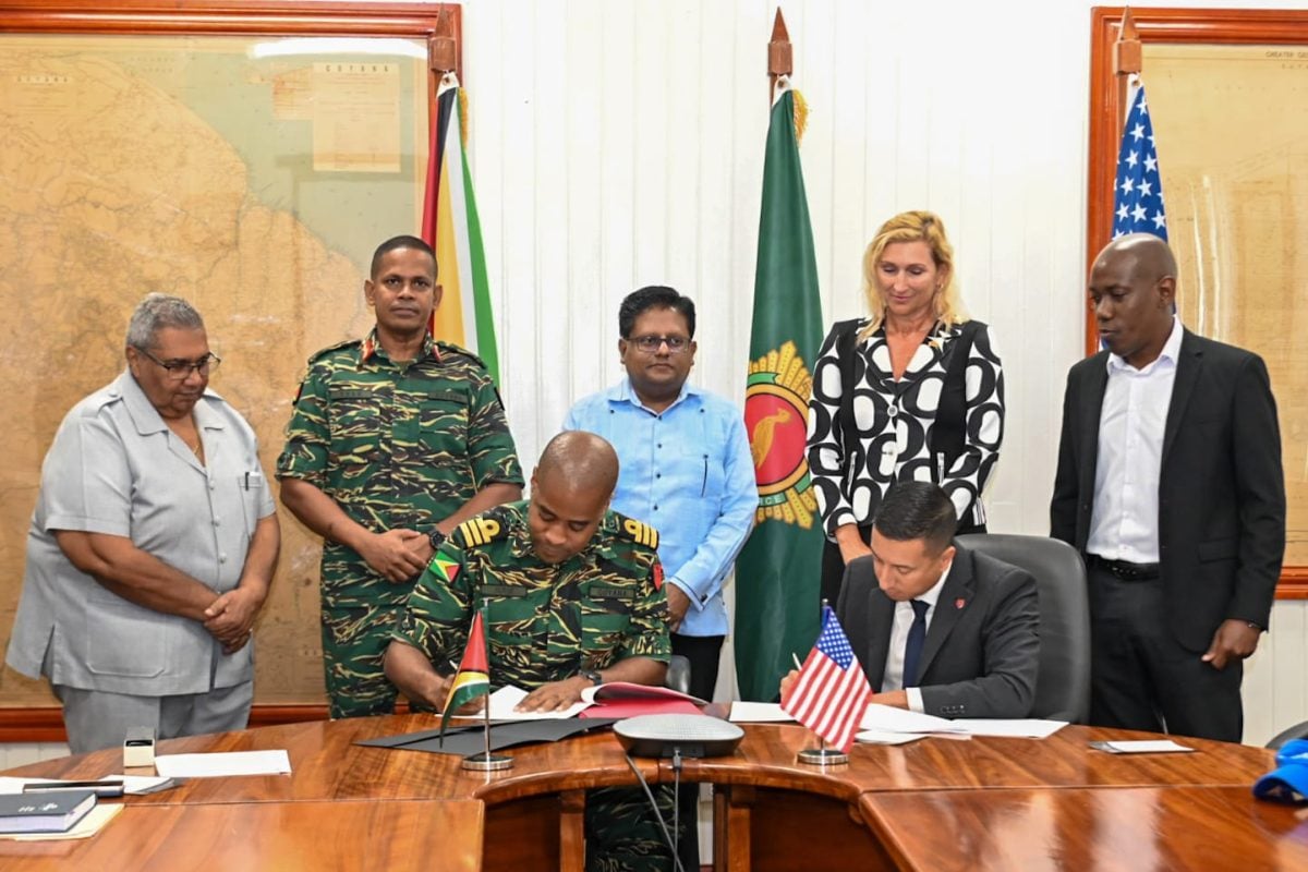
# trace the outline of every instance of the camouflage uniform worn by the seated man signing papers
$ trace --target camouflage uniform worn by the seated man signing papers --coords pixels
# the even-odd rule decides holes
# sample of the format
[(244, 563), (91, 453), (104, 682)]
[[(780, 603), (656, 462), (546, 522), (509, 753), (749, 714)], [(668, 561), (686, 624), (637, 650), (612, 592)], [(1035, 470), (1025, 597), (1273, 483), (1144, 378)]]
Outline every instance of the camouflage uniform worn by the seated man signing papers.
[[(532, 552), (527, 506), (497, 506), (459, 524), (413, 588), (395, 638), (449, 672), (446, 664), (463, 655), (472, 609), (484, 599), (493, 686), (530, 690), (632, 656), (666, 663), (672, 646), (658, 533), (610, 511), (579, 554), (551, 565)], [(671, 829), (672, 792), (666, 786), (654, 791)], [(672, 868), (642, 791), (590, 792), (586, 868)]]

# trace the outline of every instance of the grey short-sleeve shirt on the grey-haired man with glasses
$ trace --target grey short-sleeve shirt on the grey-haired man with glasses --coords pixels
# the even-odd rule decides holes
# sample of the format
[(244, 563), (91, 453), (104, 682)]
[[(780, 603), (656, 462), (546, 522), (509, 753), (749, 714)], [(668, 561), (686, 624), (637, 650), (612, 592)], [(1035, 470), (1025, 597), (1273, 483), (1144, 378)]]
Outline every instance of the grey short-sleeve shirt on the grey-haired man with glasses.
[(64, 417), (42, 465), (22, 597), (7, 662), (73, 688), (174, 696), (252, 676), (196, 621), (111, 594), (55, 541), (72, 529), (132, 543), (221, 594), (237, 586), (251, 536), (275, 511), (254, 430), (212, 391), (195, 405), (205, 464), (165, 425), (131, 373)]

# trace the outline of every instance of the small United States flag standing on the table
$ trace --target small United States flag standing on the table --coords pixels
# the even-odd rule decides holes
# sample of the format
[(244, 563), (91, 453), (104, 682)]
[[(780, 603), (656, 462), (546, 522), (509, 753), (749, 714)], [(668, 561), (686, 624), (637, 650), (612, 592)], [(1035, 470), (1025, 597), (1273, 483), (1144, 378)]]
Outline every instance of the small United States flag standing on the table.
[(821, 634), (781, 707), (833, 746), (849, 753), (872, 693), (836, 613), (821, 607)]

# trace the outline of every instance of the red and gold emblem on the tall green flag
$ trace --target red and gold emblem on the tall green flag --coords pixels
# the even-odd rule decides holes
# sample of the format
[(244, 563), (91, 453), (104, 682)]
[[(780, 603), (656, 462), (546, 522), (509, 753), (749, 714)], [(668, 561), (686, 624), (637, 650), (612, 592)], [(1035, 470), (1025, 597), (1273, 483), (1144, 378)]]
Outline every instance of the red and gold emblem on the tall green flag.
[(793, 341), (749, 363), (744, 425), (759, 482), (759, 523), (814, 524), (818, 499), (804, 454), (811, 394), (812, 375)]

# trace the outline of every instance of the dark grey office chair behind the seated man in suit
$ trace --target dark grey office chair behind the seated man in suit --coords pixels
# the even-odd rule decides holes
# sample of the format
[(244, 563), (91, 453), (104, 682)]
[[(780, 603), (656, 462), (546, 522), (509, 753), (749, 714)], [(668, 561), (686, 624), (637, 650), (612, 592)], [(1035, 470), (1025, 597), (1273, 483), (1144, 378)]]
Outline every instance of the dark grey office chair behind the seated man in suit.
[(1084, 723), (1090, 716), (1090, 600), (1080, 554), (1045, 536), (968, 533), (957, 543), (1035, 577), (1040, 669), (1031, 716)]

